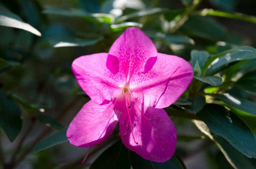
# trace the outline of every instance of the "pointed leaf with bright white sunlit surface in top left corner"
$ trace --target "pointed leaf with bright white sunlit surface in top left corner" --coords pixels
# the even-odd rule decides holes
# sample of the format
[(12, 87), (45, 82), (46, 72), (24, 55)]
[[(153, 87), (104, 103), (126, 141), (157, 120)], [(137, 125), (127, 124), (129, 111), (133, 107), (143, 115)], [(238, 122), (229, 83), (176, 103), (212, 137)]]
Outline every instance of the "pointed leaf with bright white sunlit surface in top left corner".
[(41, 33), (38, 30), (28, 23), (25, 23), (18, 15), (10, 12), (2, 6), (0, 6), (0, 25), (23, 29), (34, 33), (37, 36), (41, 36)]

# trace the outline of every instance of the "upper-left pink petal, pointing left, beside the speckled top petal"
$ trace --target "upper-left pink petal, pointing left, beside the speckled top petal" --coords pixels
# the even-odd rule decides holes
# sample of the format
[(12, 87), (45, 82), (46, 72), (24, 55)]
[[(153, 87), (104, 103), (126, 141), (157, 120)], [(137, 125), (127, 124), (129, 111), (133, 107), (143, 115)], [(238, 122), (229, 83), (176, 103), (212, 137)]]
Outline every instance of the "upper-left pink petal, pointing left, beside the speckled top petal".
[(98, 104), (111, 100), (113, 94), (117, 97), (121, 92), (119, 85), (126, 84), (126, 79), (116, 80), (113, 77), (114, 74), (106, 66), (107, 58), (108, 53), (98, 53), (78, 57), (72, 63), (80, 87)]

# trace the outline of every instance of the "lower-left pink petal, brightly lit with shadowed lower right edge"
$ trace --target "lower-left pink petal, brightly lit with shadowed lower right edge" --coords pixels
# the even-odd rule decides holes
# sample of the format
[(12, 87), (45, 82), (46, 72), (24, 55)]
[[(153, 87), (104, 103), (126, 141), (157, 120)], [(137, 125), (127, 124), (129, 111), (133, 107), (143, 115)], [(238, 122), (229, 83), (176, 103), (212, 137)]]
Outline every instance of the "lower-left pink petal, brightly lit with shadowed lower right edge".
[(91, 147), (105, 141), (119, 121), (120, 114), (113, 110), (113, 103), (98, 105), (86, 103), (70, 123), (67, 138), (79, 147)]

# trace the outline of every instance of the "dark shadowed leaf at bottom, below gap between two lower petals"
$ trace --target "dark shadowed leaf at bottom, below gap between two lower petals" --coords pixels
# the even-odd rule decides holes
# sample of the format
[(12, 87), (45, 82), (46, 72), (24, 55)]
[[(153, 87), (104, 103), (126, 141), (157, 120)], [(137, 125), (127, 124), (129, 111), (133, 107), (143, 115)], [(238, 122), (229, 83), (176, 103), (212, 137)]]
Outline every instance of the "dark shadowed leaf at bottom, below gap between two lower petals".
[(90, 169), (106, 168), (131, 168), (129, 161), (129, 149), (123, 142), (118, 140), (111, 147), (105, 150), (90, 166)]

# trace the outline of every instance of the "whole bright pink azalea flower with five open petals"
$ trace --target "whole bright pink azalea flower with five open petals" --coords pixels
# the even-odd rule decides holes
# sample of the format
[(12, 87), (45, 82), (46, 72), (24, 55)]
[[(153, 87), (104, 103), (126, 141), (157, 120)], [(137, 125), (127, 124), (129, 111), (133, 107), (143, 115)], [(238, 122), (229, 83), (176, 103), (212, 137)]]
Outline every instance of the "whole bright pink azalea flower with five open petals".
[(187, 61), (157, 53), (150, 38), (133, 27), (116, 39), (109, 53), (81, 56), (72, 70), (91, 101), (68, 127), (71, 144), (99, 144), (120, 122), (128, 149), (155, 162), (173, 156), (176, 129), (162, 108), (175, 102), (193, 79)]

